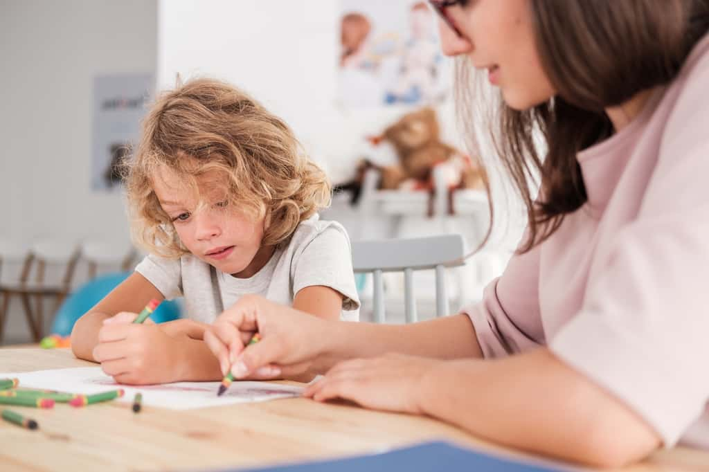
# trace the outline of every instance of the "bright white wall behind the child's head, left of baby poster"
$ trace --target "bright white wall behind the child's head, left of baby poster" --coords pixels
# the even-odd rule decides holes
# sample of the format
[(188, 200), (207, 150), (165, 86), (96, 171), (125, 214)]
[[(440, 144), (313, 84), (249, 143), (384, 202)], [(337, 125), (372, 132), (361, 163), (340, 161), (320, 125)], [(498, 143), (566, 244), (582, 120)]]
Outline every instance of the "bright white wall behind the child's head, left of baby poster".
[[(368, 150), (364, 136), (410, 108), (337, 104), (341, 13), (337, 0), (160, 0), (158, 86), (172, 88), (177, 73), (239, 86), (284, 118), (342, 181)], [(452, 139), (452, 107), (440, 114)]]

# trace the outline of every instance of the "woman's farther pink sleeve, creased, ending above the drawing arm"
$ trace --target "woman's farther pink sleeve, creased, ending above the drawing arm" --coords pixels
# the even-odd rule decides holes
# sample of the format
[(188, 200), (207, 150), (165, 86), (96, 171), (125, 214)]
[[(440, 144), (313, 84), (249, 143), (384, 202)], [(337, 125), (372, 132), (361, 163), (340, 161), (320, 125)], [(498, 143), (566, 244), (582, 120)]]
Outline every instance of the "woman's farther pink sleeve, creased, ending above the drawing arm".
[(544, 341), (539, 260), (540, 246), (515, 254), (502, 276), (486, 286), (481, 302), (462, 310), (473, 323), (486, 358), (523, 352)]

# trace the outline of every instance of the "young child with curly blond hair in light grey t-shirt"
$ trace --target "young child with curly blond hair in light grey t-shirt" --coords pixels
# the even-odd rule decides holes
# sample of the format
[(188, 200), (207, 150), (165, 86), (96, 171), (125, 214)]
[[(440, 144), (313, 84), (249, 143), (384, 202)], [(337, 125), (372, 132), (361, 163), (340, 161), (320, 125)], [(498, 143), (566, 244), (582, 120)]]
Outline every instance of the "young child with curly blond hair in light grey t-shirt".
[[(77, 321), (77, 357), (121, 383), (217, 380), (204, 327), (247, 293), (358, 319), (347, 233), (316, 213), (330, 185), (250, 96), (208, 79), (163, 94), (125, 165), (133, 236), (150, 255)], [(131, 323), (151, 298), (178, 296), (186, 319)]]

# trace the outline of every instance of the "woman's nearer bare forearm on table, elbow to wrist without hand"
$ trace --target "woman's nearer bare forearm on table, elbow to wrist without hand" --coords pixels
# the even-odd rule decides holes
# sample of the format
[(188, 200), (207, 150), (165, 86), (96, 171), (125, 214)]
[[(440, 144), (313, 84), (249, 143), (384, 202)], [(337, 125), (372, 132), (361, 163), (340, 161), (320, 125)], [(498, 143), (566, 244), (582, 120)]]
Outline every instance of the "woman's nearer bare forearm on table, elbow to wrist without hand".
[(630, 408), (547, 349), (445, 363), (423, 380), (419, 403), (493, 441), (597, 466), (635, 461), (659, 445)]

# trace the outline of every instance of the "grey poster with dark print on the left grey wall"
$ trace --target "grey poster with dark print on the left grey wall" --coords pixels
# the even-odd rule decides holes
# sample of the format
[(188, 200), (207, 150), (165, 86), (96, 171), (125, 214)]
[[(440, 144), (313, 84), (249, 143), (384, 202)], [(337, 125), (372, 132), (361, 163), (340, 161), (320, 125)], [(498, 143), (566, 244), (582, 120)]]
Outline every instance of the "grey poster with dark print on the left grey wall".
[(91, 189), (121, 187), (118, 164), (140, 138), (140, 120), (154, 87), (152, 74), (94, 77)]

